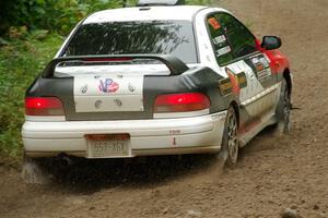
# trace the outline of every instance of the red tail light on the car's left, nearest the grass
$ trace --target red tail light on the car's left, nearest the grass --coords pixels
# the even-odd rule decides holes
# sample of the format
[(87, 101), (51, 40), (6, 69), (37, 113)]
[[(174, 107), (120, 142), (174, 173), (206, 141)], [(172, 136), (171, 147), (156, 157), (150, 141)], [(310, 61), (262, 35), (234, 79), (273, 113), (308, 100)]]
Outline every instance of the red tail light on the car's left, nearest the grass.
[(27, 97), (25, 98), (26, 116), (63, 116), (63, 107), (56, 97)]

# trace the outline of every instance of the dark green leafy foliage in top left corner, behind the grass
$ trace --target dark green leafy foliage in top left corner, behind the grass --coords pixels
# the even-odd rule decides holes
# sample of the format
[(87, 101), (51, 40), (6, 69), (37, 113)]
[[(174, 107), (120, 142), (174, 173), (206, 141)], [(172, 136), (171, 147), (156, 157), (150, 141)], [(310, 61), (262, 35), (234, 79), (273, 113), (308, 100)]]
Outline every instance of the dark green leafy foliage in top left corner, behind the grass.
[(0, 1), (0, 35), (10, 26), (28, 29), (68, 32), (87, 14), (104, 9), (122, 7), (125, 0), (11, 0)]

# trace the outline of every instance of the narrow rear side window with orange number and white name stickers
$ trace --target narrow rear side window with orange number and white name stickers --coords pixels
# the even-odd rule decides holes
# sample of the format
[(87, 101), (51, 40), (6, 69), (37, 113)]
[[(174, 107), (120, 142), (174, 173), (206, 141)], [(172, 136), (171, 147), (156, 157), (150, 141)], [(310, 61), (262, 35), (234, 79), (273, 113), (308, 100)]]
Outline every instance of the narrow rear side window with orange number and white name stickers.
[(222, 65), (232, 61), (233, 53), (220, 22), (215, 16), (209, 16), (207, 23), (218, 63)]

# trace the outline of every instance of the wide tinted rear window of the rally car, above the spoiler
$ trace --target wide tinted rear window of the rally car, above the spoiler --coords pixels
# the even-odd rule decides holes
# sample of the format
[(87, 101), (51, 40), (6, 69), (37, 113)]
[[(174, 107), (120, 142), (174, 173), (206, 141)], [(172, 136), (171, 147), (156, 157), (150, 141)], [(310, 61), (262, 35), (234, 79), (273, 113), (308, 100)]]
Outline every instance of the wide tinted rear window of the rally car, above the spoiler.
[(197, 62), (192, 24), (188, 21), (138, 21), (82, 25), (63, 56), (173, 55)]

